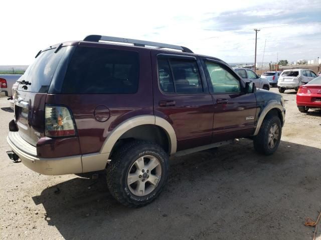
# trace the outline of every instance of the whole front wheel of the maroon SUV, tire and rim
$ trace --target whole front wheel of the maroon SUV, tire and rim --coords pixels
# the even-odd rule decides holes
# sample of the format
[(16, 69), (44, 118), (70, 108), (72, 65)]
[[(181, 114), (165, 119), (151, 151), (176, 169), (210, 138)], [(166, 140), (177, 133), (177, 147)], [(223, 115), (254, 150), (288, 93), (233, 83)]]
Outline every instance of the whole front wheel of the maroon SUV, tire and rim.
[(277, 115), (267, 115), (262, 122), (259, 133), (253, 138), (255, 150), (264, 155), (274, 153), (280, 144), (281, 134), (280, 118)]

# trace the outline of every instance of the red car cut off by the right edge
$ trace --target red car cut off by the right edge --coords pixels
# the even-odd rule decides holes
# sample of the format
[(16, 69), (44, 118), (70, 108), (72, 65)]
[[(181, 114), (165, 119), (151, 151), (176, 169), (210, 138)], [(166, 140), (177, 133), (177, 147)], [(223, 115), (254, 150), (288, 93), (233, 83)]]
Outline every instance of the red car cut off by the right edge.
[(296, 105), (300, 112), (307, 112), (309, 108), (321, 108), (321, 76), (299, 87)]

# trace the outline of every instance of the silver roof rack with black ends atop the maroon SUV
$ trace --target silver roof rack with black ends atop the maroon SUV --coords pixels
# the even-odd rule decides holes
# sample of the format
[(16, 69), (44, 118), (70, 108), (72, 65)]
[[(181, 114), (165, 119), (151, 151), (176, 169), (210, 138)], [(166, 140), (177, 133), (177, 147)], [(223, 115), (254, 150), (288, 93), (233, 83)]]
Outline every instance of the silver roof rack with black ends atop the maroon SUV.
[(115, 37), (115, 36), (102, 36), (102, 35), (88, 35), (84, 38), (84, 41), (115, 41), (115, 42), (124, 42), (124, 43), (132, 43), (134, 46), (156, 46), (158, 48), (172, 48), (181, 50), (183, 52), (190, 52), (194, 53), (191, 49), (185, 47), (185, 46), (179, 46), (179, 45), (172, 45), (167, 43), (160, 43), (160, 42), (154, 42), (154, 41), (143, 41), (143, 40), (137, 40), (137, 39), (130, 39), (130, 38), (122, 38), (122, 37)]

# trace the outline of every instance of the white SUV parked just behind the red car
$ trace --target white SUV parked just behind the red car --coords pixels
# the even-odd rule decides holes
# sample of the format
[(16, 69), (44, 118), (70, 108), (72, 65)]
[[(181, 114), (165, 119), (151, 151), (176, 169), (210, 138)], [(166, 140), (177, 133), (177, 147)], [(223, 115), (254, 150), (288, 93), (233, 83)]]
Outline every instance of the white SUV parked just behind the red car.
[(299, 89), (303, 85), (316, 77), (314, 71), (309, 69), (289, 69), (282, 71), (278, 81), (277, 87), (279, 92), (284, 92), (286, 89)]

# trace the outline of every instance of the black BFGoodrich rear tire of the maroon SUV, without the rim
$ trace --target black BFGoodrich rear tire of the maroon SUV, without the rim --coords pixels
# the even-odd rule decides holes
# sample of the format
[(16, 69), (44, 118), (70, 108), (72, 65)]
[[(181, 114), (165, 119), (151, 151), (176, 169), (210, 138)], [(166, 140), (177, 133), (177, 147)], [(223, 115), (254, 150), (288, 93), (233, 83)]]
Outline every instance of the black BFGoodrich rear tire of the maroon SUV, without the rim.
[[(162, 175), (155, 189), (147, 195), (134, 195), (127, 185), (127, 174), (132, 164), (141, 156), (155, 156), (162, 167)], [(120, 203), (129, 207), (144, 206), (161, 193), (168, 179), (169, 156), (164, 149), (145, 140), (130, 141), (113, 153), (111, 162), (106, 167), (107, 185), (110, 193)]]

